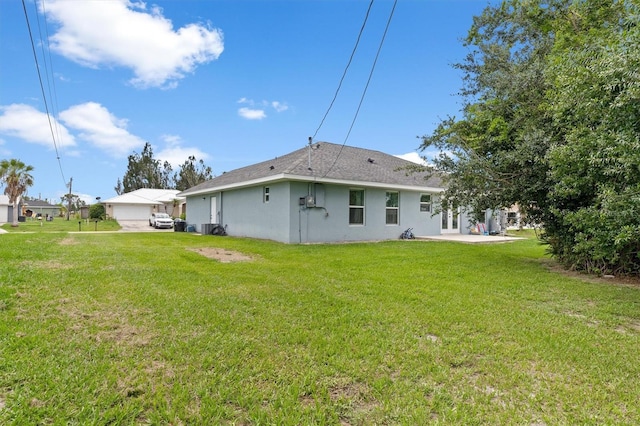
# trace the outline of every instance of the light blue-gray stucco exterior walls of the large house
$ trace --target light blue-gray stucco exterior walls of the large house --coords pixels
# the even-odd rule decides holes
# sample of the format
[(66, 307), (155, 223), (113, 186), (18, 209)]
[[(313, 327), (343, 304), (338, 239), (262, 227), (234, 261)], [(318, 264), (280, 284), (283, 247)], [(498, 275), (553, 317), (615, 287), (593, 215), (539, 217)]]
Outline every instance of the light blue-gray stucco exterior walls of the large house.
[[(416, 236), (440, 235), (440, 214), (433, 214), (438, 201), (431, 194), (429, 211), (421, 211), (419, 191), (350, 187), (347, 185), (279, 182), (187, 198), (187, 224), (202, 232), (203, 224), (219, 223), (237, 237), (262, 238), (283, 243), (376, 241), (398, 239), (407, 228)], [(349, 191), (365, 193), (364, 224), (349, 224)], [(386, 224), (387, 192), (398, 192), (398, 224)], [(218, 212), (211, 222), (211, 197)], [(308, 196), (313, 197), (309, 203)], [(466, 214), (460, 215), (460, 232), (469, 233)]]

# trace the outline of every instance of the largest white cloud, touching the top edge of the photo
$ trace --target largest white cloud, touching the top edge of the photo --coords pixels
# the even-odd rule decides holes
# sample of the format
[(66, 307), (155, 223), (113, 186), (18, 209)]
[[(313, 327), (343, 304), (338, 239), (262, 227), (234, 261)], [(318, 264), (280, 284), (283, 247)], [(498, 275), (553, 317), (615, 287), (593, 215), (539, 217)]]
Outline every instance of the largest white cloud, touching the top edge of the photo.
[(88, 67), (130, 68), (139, 87), (175, 87), (224, 50), (220, 30), (201, 24), (174, 30), (161, 9), (147, 11), (143, 2), (50, 0), (46, 12), (59, 25), (51, 36), (55, 51)]

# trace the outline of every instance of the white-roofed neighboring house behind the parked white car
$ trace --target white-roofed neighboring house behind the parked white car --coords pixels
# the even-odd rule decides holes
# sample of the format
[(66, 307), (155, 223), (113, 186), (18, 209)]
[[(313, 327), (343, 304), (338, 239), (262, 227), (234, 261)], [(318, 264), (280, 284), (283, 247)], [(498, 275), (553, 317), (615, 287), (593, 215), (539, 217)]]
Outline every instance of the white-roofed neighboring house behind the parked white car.
[(184, 209), (184, 198), (177, 189), (137, 189), (103, 200), (107, 217), (116, 220), (149, 220), (154, 212), (178, 217)]

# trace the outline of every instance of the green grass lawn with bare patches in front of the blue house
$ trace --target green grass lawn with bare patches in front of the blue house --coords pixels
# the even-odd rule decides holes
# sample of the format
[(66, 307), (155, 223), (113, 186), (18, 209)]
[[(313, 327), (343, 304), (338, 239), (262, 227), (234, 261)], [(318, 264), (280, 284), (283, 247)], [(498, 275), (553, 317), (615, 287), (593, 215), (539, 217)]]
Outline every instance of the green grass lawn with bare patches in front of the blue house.
[(640, 287), (543, 254), (3, 234), (0, 424), (639, 423)]

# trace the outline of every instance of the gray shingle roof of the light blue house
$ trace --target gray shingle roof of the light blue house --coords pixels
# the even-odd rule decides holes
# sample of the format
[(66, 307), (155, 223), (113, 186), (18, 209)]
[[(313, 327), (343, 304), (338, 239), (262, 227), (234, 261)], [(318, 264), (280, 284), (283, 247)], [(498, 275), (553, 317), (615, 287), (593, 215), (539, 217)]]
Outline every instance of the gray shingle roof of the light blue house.
[(287, 179), (442, 188), (441, 179), (438, 177), (432, 176), (427, 179), (424, 172), (408, 171), (408, 168), (415, 167), (415, 163), (380, 151), (318, 142), (312, 144), (311, 149), (307, 146), (282, 157), (223, 173), (179, 195), (187, 196)]

